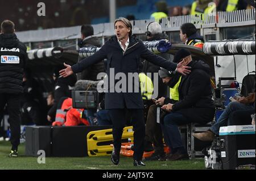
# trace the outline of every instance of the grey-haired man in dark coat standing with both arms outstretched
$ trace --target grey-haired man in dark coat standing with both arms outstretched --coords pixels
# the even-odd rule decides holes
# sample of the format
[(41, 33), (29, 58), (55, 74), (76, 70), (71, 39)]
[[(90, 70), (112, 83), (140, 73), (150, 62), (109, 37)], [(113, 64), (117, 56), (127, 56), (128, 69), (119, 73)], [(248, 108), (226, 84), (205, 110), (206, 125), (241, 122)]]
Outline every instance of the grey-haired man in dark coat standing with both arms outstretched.
[[(98, 52), (73, 66), (64, 64), (66, 69), (61, 70), (60, 75), (67, 77), (73, 73), (81, 72), (88, 66), (96, 64), (104, 58), (108, 58), (106, 69), (108, 78), (113, 77), (113, 70), (114, 77), (119, 77), (115, 76), (118, 73), (125, 74), (125, 80), (122, 80), (125, 82), (125, 85), (122, 84), (122, 91), (112, 90), (113, 87), (117, 88), (119, 82), (114, 80), (114, 85), (112, 85), (111, 81), (113, 80), (110, 79), (110, 86), (108, 86), (105, 94), (105, 108), (109, 110), (110, 117), (113, 121), (114, 149), (111, 158), (112, 162), (118, 165), (122, 132), (125, 126), (125, 112), (128, 110), (133, 117), (131, 123), (134, 127), (134, 166), (144, 166), (144, 163), (141, 162), (145, 136), (142, 94), (141, 91), (134, 91), (134, 89), (138, 88), (139, 79), (135, 78), (135, 81), (130, 81), (127, 75), (130, 73), (138, 74), (141, 58), (167, 70), (176, 70), (182, 74), (187, 74), (190, 70), (187, 69), (187, 66), (182, 65), (183, 62), (174, 64), (150, 52), (141, 40), (132, 36), (132, 26), (129, 20), (125, 18), (115, 20), (114, 28), (116, 36), (107, 41)], [(126, 85), (130, 86), (133, 91), (123, 91), (123, 87)]]

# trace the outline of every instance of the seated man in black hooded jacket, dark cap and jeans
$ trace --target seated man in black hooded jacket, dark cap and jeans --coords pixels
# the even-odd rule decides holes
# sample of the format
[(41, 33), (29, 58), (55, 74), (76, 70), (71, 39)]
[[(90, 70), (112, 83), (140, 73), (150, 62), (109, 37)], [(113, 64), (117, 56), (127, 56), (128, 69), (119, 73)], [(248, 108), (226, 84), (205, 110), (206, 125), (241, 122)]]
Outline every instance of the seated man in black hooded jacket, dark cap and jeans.
[(188, 159), (178, 125), (188, 123), (205, 124), (213, 120), (215, 107), (212, 100), (209, 66), (203, 61), (192, 60), (191, 53), (180, 49), (176, 60), (191, 66), (191, 74), (182, 75), (179, 85), (179, 102), (165, 104), (162, 109), (171, 112), (162, 124), (164, 139), (171, 152), (166, 160)]

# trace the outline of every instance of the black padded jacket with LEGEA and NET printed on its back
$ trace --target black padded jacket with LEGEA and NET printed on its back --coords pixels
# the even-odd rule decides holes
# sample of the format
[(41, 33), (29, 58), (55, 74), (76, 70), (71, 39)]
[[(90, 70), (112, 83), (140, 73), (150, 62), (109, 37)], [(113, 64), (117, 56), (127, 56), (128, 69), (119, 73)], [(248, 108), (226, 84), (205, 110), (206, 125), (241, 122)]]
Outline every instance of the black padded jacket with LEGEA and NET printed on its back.
[(0, 35), (0, 94), (21, 94), (27, 48), (15, 33)]

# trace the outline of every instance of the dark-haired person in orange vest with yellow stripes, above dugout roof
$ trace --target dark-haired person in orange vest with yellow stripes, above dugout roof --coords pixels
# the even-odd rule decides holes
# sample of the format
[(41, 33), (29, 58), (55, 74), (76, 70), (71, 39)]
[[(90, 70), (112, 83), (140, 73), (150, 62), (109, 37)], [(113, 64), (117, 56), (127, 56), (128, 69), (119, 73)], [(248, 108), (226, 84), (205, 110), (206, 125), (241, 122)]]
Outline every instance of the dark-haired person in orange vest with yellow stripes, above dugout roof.
[(184, 23), (180, 27), (180, 40), (186, 45), (203, 48), (204, 38), (197, 33), (196, 27), (192, 23)]

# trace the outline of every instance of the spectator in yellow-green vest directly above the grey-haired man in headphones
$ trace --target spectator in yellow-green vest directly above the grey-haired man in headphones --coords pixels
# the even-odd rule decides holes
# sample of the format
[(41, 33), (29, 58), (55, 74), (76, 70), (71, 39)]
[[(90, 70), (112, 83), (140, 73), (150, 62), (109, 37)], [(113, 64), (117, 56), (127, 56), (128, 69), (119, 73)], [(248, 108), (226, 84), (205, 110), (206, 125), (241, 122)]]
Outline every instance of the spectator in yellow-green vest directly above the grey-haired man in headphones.
[(156, 6), (156, 12), (151, 14), (150, 19), (155, 19), (155, 22), (159, 22), (162, 18), (168, 17), (168, 5), (166, 1), (158, 1), (155, 3)]

